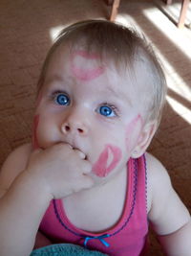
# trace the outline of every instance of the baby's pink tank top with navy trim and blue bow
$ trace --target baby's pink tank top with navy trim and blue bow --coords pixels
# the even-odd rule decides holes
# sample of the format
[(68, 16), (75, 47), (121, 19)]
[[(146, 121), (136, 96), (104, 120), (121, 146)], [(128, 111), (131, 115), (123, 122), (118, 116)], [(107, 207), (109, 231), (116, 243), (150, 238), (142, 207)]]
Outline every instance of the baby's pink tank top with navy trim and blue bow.
[(114, 256), (143, 255), (148, 233), (145, 156), (128, 162), (127, 197), (116, 226), (98, 234), (78, 229), (68, 220), (62, 201), (56, 199), (51, 201), (40, 230), (53, 243), (84, 245)]

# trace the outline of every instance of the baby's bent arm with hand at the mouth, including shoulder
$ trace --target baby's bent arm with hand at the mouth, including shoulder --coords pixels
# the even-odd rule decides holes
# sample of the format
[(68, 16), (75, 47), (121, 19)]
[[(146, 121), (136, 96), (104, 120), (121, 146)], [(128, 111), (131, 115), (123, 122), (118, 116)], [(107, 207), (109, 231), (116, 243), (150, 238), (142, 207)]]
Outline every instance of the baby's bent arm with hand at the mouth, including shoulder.
[(70, 145), (62, 143), (45, 151), (34, 151), (29, 161), (20, 164), (23, 152), (21, 148), (11, 153), (1, 171), (2, 256), (29, 255), (50, 200), (93, 184), (92, 179), (84, 175), (91, 171), (90, 164)]

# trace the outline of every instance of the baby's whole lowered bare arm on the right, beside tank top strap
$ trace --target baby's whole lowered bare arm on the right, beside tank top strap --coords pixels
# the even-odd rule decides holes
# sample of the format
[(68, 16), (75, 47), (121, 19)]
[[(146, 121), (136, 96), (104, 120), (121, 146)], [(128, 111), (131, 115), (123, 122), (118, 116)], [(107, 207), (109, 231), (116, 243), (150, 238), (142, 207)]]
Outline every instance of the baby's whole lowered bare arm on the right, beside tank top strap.
[(189, 256), (191, 252), (190, 214), (173, 189), (169, 175), (159, 161), (147, 155), (151, 209), (148, 214), (159, 242), (167, 255)]

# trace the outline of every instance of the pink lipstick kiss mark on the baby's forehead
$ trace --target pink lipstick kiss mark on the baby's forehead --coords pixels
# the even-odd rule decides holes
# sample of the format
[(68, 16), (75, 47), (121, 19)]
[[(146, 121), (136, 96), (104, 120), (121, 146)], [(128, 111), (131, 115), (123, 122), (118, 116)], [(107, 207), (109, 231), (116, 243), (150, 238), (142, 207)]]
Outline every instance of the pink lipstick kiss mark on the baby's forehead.
[[(98, 56), (96, 54), (87, 53), (86, 51), (75, 51), (71, 58), (71, 69), (74, 74), (74, 77), (81, 81), (91, 81), (103, 74), (105, 67), (98, 65), (97, 63)], [(82, 60), (78, 62), (78, 60)], [(90, 67), (83, 68), (81, 64), (89, 61)]]

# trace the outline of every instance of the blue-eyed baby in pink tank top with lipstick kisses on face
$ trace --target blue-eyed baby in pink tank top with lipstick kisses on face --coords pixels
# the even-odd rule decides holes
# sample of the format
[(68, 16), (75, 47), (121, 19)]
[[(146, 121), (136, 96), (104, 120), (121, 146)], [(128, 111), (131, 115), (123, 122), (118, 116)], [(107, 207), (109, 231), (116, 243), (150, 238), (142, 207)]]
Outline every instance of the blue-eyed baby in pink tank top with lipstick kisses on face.
[(79, 244), (146, 253), (148, 222), (168, 255), (191, 255), (188, 210), (145, 152), (166, 83), (142, 36), (103, 20), (75, 23), (54, 42), (38, 81), (32, 145), (0, 175), (0, 255)]

